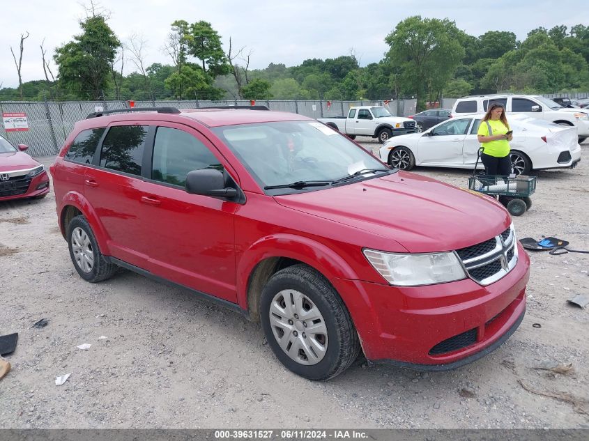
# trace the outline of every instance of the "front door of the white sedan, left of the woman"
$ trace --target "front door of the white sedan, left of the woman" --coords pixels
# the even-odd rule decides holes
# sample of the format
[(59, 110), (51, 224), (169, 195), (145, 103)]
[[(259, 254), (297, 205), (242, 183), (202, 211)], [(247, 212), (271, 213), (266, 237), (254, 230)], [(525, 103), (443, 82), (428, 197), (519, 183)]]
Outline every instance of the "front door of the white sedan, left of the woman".
[(418, 144), (418, 164), (463, 164), (462, 148), (472, 118), (453, 118), (423, 134)]

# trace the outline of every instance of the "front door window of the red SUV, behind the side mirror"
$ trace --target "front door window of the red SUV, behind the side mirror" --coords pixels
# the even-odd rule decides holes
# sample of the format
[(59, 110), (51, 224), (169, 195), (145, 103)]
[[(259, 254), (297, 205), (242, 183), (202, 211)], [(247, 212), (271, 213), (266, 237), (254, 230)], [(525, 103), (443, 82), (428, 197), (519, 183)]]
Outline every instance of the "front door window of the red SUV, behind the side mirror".
[(211, 150), (192, 134), (169, 127), (158, 127), (151, 166), (153, 180), (184, 187), (189, 171), (221, 167)]

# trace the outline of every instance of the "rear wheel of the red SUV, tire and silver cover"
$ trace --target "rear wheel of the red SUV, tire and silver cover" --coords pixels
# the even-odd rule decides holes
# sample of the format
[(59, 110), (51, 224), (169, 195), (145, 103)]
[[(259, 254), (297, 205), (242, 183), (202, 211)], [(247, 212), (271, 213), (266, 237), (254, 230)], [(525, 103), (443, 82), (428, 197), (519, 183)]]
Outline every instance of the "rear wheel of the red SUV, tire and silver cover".
[(68, 225), (68, 248), (77, 273), (86, 281), (103, 281), (116, 271), (116, 265), (100, 252), (90, 224), (82, 215), (74, 217)]

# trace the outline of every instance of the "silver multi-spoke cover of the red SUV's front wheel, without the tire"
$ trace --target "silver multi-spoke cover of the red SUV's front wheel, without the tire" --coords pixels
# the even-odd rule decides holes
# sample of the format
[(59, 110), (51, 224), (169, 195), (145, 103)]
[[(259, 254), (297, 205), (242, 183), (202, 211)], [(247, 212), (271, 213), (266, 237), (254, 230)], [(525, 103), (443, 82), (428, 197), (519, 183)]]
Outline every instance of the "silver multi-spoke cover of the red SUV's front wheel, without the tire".
[(299, 364), (321, 362), (328, 347), (327, 325), (309, 297), (293, 289), (280, 291), (269, 315), (274, 338), (286, 355)]

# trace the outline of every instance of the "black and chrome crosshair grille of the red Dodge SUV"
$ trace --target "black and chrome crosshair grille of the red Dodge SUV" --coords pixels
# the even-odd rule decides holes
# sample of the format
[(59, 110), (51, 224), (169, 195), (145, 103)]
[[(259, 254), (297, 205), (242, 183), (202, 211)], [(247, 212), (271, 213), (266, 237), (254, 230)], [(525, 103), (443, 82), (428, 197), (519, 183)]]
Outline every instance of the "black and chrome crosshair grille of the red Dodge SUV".
[(514, 259), (515, 244), (515, 233), (510, 226), (494, 238), (457, 249), (456, 254), (471, 279), (481, 285), (489, 285), (514, 268), (517, 263)]

